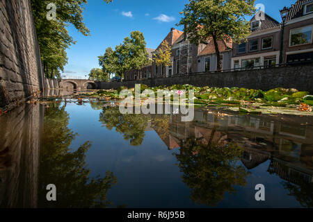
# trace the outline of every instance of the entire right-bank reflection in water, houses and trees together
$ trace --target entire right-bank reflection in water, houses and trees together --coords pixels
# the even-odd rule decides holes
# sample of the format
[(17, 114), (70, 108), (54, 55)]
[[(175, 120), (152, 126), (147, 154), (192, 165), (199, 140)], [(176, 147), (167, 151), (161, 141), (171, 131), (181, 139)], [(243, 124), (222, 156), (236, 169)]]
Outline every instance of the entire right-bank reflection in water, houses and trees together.
[(289, 195), (303, 207), (313, 207), (313, 128), (309, 117), (195, 110), (194, 121), (186, 123), (175, 114), (124, 116), (117, 108), (104, 108), (100, 121), (109, 130), (115, 127), (131, 145), (140, 145), (145, 132), (153, 129), (169, 150), (179, 149), (175, 156), (183, 182), (191, 188), (191, 199), (196, 203), (218, 204), (225, 193), (236, 192), (236, 185), (246, 185), (248, 171), (270, 162), (268, 173), (284, 180), (282, 187)]

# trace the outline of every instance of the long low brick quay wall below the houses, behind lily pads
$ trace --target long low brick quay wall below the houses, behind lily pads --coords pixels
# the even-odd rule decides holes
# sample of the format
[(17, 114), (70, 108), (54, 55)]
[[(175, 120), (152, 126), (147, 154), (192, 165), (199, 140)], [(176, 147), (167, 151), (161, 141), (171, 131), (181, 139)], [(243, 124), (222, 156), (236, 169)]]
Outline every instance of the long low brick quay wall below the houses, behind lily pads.
[(269, 90), (276, 87), (296, 88), (313, 93), (313, 65), (296, 67), (274, 67), (250, 71), (230, 71), (215, 74), (196, 74), (172, 78), (155, 78), (151, 80), (127, 81), (124, 83), (100, 83), (101, 89), (117, 89), (121, 85), (129, 88), (135, 84), (150, 87), (159, 85), (190, 84), (198, 87), (244, 87), (249, 89)]

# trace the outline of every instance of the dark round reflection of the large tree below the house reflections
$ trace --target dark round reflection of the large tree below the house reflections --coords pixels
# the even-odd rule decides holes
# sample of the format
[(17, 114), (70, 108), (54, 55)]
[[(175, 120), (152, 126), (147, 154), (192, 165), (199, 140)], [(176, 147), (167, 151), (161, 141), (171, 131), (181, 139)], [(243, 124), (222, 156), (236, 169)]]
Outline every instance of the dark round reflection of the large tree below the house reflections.
[(191, 188), (191, 199), (203, 205), (217, 205), (226, 192), (234, 194), (235, 185), (246, 185), (248, 172), (239, 166), (241, 148), (234, 144), (210, 146), (201, 139), (187, 139), (175, 154), (183, 182)]

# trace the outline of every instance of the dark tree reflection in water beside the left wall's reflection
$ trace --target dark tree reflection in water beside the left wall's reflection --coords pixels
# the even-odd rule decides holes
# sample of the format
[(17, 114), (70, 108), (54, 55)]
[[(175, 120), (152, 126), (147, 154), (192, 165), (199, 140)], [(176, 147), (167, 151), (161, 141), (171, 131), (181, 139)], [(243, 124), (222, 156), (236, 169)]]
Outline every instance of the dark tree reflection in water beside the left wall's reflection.
[[(110, 171), (104, 178), (89, 178), (86, 152), (90, 142), (77, 151), (70, 144), (77, 134), (67, 125), (69, 116), (58, 104), (46, 109), (43, 144), (40, 151), (39, 207), (109, 207), (106, 194), (117, 182)], [(48, 202), (46, 186), (56, 185), (57, 201)]]

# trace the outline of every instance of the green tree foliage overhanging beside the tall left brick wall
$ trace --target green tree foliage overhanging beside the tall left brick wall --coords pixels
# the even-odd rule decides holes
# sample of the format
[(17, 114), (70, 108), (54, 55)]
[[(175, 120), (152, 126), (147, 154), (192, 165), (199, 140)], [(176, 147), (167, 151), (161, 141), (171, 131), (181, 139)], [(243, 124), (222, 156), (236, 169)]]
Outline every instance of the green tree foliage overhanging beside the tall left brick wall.
[[(111, 0), (104, 0), (106, 3)], [(60, 76), (63, 67), (67, 64), (66, 49), (75, 44), (67, 31), (72, 24), (77, 31), (87, 36), (90, 31), (83, 23), (84, 5), (87, 0), (54, 0), (56, 5), (56, 20), (47, 20), (47, 5), (51, 1), (31, 0), (35, 29), (38, 36), (40, 55), (45, 76), (53, 78)]]

